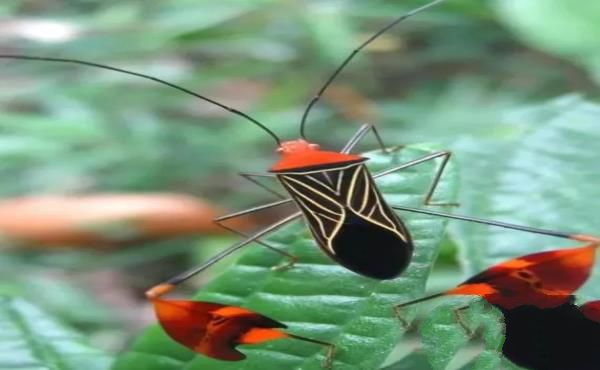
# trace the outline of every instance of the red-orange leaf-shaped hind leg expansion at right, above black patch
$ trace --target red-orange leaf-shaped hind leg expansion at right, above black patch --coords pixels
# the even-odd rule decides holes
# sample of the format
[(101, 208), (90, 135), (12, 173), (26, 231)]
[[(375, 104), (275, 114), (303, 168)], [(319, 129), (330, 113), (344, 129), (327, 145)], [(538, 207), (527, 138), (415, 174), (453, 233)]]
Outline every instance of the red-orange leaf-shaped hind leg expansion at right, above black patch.
[[(591, 238), (591, 237), (590, 237)], [(589, 278), (598, 240), (588, 245), (534, 253), (499, 263), (473, 276), (448, 295), (478, 295), (511, 309), (522, 305), (556, 307)]]

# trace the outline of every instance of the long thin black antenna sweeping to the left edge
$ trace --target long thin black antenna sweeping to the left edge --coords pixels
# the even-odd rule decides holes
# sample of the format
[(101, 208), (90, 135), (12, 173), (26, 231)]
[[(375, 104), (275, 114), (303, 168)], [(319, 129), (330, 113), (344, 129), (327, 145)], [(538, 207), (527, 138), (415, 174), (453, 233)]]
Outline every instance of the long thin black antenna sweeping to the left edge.
[(268, 129), (265, 125), (263, 125), (262, 123), (258, 122), (257, 120), (255, 120), (254, 118), (250, 117), (249, 115), (247, 115), (244, 112), (240, 112), (237, 109), (231, 108), (225, 104), (221, 104), (218, 101), (215, 101), (213, 99), (207, 98), (206, 96), (200, 95), (192, 90), (186, 89), (185, 87), (176, 85), (174, 83), (165, 81), (165, 80), (161, 80), (160, 78), (156, 78), (153, 76), (149, 76), (143, 73), (138, 73), (138, 72), (133, 72), (133, 71), (129, 71), (126, 69), (121, 69), (121, 68), (117, 68), (117, 67), (111, 67), (105, 64), (100, 64), (100, 63), (94, 63), (94, 62), (87, 62), (85, 60), (77, 60), (77, 59), (67, 59), (67, 58), (50, 58), (50, 57), (39, 57), (39, 56), (32, 56), (32, 55), (20, 55), (20, 54), (0, 54), (0, 59), (21, 59), (21, 60), (37, 60), (37, 61), (45, 61), (45, 62), (58, 62), (58, 63), (71, 63), (71, 64), (79, 64), (79, 65), (84, 65), (84, 66), (88, 66), (88, 67), (95, 67), (95, 68), (102, 68), (102, 69), (107, 69), (109, 71), (115, 71), (115, 72), (120, 72), (120, 73), (124, 73), (124, 74), (128, 74), (128, 75), (132, 75), (132, 76), (136, 76), (136, 77), (141, 77), (144, 78), (146, 80), (151, 80), (154, 82), (158, 82), (159, 84), (165, 85), (165, 86), (169, 86), (171, 88), (174, 88), (176, 90), (182, 91), (188, 95), (192, 95), (195, 96), (196, 98), (202, 99), (206, 102), (212, 103), (216, 106), (219, 106), (223, 109), (225, 109), (228, 112), (231, 112), (235, 115), (238, 115), (240, 117), (243, 117), (245, 119), (247, 119), (248, 121), (252, 122), (253, 124), (255, 124), (256, 126), (262, 128), (266, 133), (268, 133), (269, 135), (271, 135), (271, 137), (273, 137), (273, 139), (275, 139), (275, 141), (277, 142), (277, 146), (279, 146), (281, 144), (281, 140), (279, 139), (279, 137), (277, 135), (275, 135), (275, 133), (273, 131), (271, 131), (270, 129)]

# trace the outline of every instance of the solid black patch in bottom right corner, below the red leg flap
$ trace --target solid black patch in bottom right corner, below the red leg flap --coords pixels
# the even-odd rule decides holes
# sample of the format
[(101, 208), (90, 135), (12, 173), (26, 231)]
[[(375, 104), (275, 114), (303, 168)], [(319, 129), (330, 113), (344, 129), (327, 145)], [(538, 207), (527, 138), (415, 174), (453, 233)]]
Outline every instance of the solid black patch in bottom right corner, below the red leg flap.
[(502, 352), (515, 364), (532, 370), (600, 369), (600, 323), (586, 318), (576, 305), (502, 312)]

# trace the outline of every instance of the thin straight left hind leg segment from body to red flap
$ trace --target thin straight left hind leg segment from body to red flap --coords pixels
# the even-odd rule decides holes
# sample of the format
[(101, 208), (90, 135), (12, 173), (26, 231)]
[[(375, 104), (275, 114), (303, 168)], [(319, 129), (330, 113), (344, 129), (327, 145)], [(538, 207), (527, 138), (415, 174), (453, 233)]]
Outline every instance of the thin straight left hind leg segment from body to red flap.
[(298, 217), (300, 217), (301, 213), (300, 212), (296, 212), (290, 216), (287, 216), (285, 218), (283, 218), (282, 220), (279, 220), (267, 227), (265, 227), (264, 229), (257, 231), (256, 233), (252, 234), (251, 236), (249, 236), (248, 238), (239, 241), (238, 243), (235, 243), (234, 245), (232, 245), (231, 247), (225, 249), (224, 251), (222, 251), (221, 253), (217, 254), (216, 256), (210, 258), (208, 261), (204, 262), (202, 265), (194, 267), (188, 271), (184, 271), (179, 275), (176, 275), (172, 278), (170, 278), (169, 280), (165, 281), (164, 283), (155, 285), (154, 287), (150, 288), (147, 292), (146, 292), (146, 296), (150, 299), (156, 299), (164, 294), (169, 293), (170, 291), (172, 291), (173, 289), (175, 289), (175, 287), (181, 283), (183, 283), (184, 281), (188, 280), (189, 278), (199, 274), (200, 272), (206, 270), (207, 268), (209, 268), (210, 266), (214, 265), (215, 263), (217, 263), (218, 261), (222, 260), (223, 258), (237, 252), (238, 250), (242, 249), (243, 247), (247, 246), (248, 244), (256, 241), (257, 239), (279, 229), (280, 227), (284, 226), (285, 224), (288, 224), (290, 222), (292, 222), (293, 220), (297, 219)]

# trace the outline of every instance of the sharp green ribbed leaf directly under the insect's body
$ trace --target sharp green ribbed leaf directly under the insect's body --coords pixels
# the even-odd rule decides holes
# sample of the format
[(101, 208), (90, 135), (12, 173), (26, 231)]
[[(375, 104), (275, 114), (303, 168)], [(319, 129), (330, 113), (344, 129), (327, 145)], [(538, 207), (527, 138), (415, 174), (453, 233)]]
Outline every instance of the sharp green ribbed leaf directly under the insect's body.
[[(370, 169), (376, 173), (394, 163), (424, 156), (431, 149), (407, 147), (397, 155), (368, 153)], [(390, 204), (420, 206), (432, 181), (434, 163), (424, 163), (378, 179)], [(452, 166), (450, 166), (452, 167)], [(438, 187), (436, 199), (451, 200), (456, 191), (455, 173), (450, 170)], [(422, 294), (445, 221), (422, 215), (402, 215), (415, 241), (412, 264), (402, 277), (376, 281), (354, 274), (329, 260), (315, 247), (306, 226), (293, 225), (269, 238), (300, 258), (294, 268), (274, 272), (270, 267), (281, 258), (259, 246), (249, 247), (235, 265), (209, 283), (198, 299), (241, 305), (289, 325), (298, 335), (335, 343), (334, 367), (377, 369), (403, 333), (394, 317), (392, 304)], [(407, 314), (410, 316), (410, 314)], [(150, 328), (124, 354), (115, 370), (209, 370), (209, 369), (321, 369), (323, 349), (294, 340), (247, 346), (243, 362), (227, 363), (196, 355)]]

